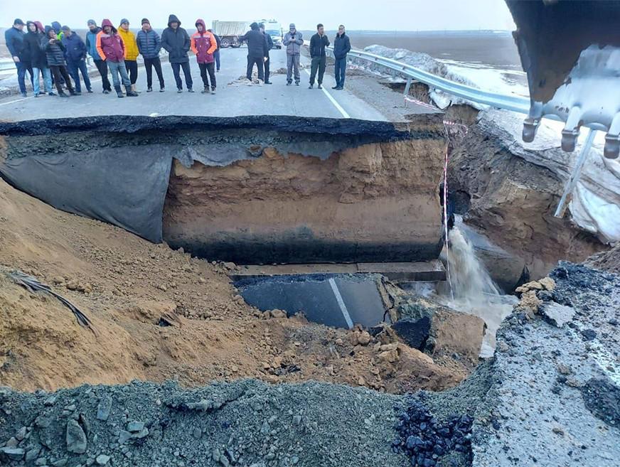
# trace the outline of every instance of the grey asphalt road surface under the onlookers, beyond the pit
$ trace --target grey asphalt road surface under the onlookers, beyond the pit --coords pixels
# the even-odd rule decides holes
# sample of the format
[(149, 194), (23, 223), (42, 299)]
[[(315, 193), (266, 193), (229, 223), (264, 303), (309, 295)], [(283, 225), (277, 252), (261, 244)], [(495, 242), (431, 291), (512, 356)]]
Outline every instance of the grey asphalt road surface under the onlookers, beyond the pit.
[[(277, 73), (286, 68), (286, 52), (271, 51), (270, 80), (273, 85), (250, 85), (245, 79), (246, 48), (222, 50), (220, 73), (216, 74), (218, 93), (203, 95), (203, 82), (196, 59), (190, 58), (193, 94), (183, 89), (176, 92), (171, 66), (162, 64), (166, 92), (159, 92), (159, 82), (154, 74), (154, 92), (146, 92), (146, 73), (139, 69), (139, 97), (119, 99), (114, 92), (102, 94), (101, 80), (95, 78), (92, 94), (85, 92), (81, 96), (60, 99), (59, 97), (40, 96), (6, 97), (0, 100), (0, 119), (19, 121), (41, 118), (80, 117), (95, 114), (123, 115), (212, 115), (217, 117), (236, 117), (240, 115), (295, 115), (301, 117), (356, 118), (366, 120), (387, 120), (375, 107), (356, 97), (348, 90), (336, 91), (333, 76), (326, 73), (324, 90), (308, 89), (309, 59), (301, 57), (301, 85), (287, 86), (286, 73)], [(183, 76), (183, 73), (181, 73)], [(183, 88), (185, 83), (183, 82)]]

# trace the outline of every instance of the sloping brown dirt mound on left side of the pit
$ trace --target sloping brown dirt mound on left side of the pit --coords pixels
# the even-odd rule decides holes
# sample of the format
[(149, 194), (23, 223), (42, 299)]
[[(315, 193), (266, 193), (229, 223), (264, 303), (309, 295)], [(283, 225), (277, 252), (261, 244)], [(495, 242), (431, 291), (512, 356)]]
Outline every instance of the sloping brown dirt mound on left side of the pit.
[[(54, 210), (3, 181), (0, 213), (4, 271), (20, 269), (52, 285), (97, 331), (80, 327), (56, 299), (31, 294), (0, 274), (4, 385), (54, 390), (134, 378), (203, 385), (257, 377), (405, 392), (451, 387), (469, 371), (406, 345), (360, 342), (360, 331), (261, 313), (237, 295), (225, 265)], [(395, 346), (390, 358), (385, 345)]]

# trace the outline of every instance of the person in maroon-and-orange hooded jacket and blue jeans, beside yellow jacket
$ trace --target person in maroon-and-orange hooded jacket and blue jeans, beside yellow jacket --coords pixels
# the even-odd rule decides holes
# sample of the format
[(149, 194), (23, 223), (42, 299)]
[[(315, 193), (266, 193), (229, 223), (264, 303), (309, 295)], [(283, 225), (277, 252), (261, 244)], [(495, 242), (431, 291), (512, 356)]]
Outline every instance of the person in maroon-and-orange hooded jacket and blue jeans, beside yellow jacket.
[[(125, 67), (125, 46), (121, 36), (112, 21), (105, 18), (101, 22), (102, 30), (97, 34), (97, 53), (102, 60), (107, 62), (107, 68), (112, 73), (112, 82), (114, 82), (114, 90), (118, 97), (124, 97), (121, 91), (121, 81), (127, 97), (137, 97), (137, 92), (132, 91), (132, 82), (129, 81), (127, 75), (127, 67)], [(120, 80), (119, 80), (120, 75)]]

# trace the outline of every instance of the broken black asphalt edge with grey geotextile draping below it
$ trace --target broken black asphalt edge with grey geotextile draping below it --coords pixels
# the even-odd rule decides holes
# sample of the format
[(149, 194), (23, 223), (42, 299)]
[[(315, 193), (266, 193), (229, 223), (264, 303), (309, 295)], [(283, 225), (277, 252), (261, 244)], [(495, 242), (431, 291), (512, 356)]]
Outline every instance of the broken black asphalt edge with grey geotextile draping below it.
[(442, 139), (440, 117), (416, 130), (388, 122), (296, 117), (46, 119), (0, 124), (0, 176), (55, 208), (163, 240), (173, 159), (187, 168), (256, 159), (265, 147), (328, 159), (364, 144)]

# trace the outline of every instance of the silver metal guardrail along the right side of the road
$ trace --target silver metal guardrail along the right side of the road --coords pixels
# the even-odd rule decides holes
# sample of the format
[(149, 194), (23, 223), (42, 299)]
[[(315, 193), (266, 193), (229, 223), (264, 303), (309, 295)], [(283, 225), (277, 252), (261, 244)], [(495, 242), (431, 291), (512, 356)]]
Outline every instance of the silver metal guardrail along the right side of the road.
[[(328, 47), (333, 53), (333, 47)], [(499, 109), (512, 110), (513, 112), (519, 112), (521, 114), (528, 114), (530, 112), (530, 100), (526, 97), (520, 97), (515, 95), (503, 95), (498, 92), (485, 91), (464, 85), (460, 82), (454, 82), (447, 80), (444, 77), (433, 75), (427, 71), (415, 68), (407, 63), (402, 63), (398, 60), (392, 60), (391, 58), (385, 58), (373, 53), (364, 52), (363, 50), (351, 50), (348, 55), (362, 60), (368, 60), (372, 63), (377, 63), (390, 70), (395, 70), (407, 77), (407, 87), (405, 88), (405, 94), (408, 94), (412, 80), (423, 82), (429, 87), (433, 87), (436, 90), (446, 92), (447, 94), (461, 97), (465, 100), (472, 102), (478, 102), (479, 104), (490, 105), (491, 107), (497, 107)]]

